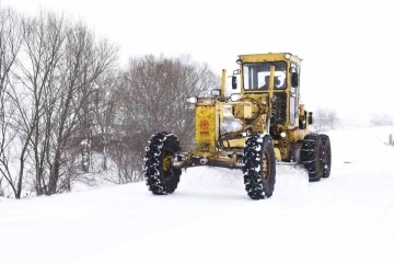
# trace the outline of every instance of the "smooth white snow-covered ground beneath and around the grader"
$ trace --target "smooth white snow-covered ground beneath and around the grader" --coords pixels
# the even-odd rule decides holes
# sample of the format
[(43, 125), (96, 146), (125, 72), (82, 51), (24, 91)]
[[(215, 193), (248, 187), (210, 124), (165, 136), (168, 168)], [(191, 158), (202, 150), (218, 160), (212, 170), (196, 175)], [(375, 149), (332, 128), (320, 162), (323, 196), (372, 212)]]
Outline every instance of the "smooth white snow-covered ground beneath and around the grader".
[(252, 201), (241, 171), (195, 168), (173, 195), (144, 183), (0, 201), (0, 262), (394, 262), (394, 127), (328, 133), (332, 176), (278, 167)]

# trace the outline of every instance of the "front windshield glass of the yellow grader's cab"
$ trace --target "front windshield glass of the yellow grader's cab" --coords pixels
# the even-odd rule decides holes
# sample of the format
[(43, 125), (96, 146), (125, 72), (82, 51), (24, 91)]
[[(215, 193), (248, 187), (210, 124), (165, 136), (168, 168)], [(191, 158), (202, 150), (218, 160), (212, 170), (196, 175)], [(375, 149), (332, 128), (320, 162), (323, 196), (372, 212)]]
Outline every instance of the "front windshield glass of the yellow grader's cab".
[(287, 88), (286, 61), (254, 62), (243, 65), (243, 79), (245, 90), (268, 90), (270, 66), (275, 67), (274, 89)]

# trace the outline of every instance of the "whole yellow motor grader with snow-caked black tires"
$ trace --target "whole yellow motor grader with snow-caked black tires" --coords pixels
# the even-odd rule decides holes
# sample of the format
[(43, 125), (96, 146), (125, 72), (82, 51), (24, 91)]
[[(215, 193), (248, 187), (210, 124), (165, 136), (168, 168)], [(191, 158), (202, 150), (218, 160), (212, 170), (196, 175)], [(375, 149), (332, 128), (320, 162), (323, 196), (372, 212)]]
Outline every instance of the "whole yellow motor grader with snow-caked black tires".
[[(196, 112), (195, 149), (182, 151), (176, 135), (166, 132), (149, 140), (143, 169), (153, 194), (172, 194), (183, 168), (201, 165), (242, 170), (253, 199), (273, 195), (277, 164), (302, 165), (310, 182), (329, 176), (329, 137), (309, 130), (313, 115), (300, 104), (301, 59), (290, 53), (253, 54), (240, 55), (236, 64), (232, 94), (224, 95), (223, 69), (221, 89), (188, 99)], [(225, 132), (227, 119), (237, 119), (239, 128)]]

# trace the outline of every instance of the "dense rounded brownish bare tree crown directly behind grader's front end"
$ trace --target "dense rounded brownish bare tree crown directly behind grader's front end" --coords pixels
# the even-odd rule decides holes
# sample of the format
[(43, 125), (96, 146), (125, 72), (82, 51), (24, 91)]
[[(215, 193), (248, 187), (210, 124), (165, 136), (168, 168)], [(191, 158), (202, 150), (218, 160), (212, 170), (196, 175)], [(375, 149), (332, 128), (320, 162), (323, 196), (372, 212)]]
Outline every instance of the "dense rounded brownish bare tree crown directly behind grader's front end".
[(128, 123), (137, 125), (146, 138), (169, 130), (186, 142), (194, 137), (194, 111), (186, 99), (218, 87), (219, 77), (208, 65), (198, 65), (190, 57), (150, 55), (130, 59), (124, 78), (123, 105)]

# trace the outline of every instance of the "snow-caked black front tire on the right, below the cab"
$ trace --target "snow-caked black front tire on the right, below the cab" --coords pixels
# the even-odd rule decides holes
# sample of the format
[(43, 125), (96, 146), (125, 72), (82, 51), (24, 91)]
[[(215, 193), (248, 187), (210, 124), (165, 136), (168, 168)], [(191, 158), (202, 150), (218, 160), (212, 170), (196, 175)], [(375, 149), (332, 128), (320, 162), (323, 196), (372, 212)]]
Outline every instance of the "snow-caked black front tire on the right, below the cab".
[[(268, 163), (269, 176), (265, 178), (263, 160)], [(252, 199), (266, 199), (273, 196), (276, 183), (276, 158), (274, 142), (269, 135), (253, 133), (246, 138), (243, 158), (243, 176), (247, 195)]]

